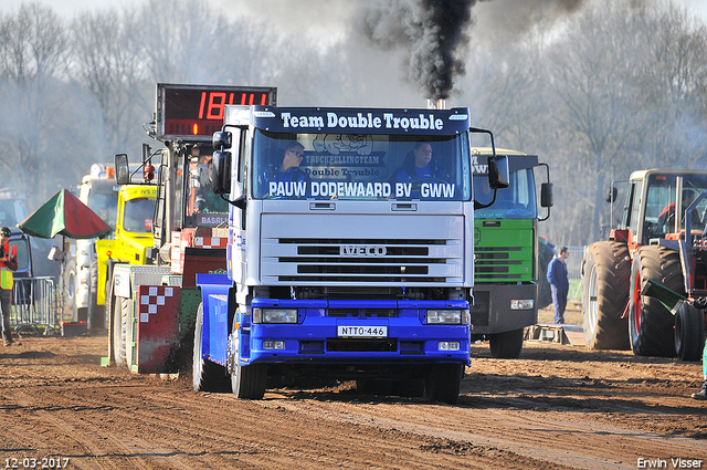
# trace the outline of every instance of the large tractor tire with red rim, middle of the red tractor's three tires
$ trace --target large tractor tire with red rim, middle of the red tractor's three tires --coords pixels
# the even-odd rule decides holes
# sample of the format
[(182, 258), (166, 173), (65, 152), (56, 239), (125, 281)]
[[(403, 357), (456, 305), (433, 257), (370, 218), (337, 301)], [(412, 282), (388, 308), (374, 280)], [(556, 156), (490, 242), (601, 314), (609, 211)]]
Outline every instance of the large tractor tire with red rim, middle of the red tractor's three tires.
[(641, 295), (647, 280), (684, 293), (677, 251), (666, 247), (640, 247), (631, 269), (629, 333), (636, 356), (675, 357), (675, 318), (657, 299)]

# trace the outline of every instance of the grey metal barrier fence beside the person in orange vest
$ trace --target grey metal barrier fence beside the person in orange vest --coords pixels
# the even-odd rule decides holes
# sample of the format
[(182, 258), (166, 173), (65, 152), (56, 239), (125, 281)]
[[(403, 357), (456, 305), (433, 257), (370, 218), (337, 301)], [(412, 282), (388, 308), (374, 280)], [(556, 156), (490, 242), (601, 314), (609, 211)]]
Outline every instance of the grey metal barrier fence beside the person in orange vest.
[(56, 297), (54, 278), (21, 278), (12, 286), (10, 325), (15, 332), (24, 330), (38, 334), (61, 332), (65, 318)]

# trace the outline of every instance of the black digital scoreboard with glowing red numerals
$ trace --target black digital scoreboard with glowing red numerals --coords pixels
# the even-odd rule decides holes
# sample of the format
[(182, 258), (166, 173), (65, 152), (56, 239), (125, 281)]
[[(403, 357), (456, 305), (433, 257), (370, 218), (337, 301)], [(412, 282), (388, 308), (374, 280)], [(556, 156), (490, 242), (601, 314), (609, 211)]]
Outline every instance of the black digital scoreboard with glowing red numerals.
[(211, 140), (228, 104), (276, 105), (274, 86), (157, 84), (156, 138)]

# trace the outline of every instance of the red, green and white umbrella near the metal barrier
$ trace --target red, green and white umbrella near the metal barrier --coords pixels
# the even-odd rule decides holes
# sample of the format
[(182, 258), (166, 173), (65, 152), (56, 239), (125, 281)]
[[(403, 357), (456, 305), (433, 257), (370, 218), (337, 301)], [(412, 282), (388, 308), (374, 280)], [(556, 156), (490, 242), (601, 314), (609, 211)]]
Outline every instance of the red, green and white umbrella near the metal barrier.
[(89, 239), (104, 237), (112, 231), (96, 212), (66, 189), (52, 196), (18, 227), (27, 234), (40, 238), (62, 234)]

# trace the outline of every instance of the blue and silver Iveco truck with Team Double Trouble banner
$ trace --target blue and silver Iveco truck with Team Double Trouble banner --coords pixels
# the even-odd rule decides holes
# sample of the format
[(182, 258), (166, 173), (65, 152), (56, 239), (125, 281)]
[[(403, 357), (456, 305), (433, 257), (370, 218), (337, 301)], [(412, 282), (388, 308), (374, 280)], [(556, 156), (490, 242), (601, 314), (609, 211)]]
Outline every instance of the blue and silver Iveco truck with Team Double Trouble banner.
[[(469, 122), (467, 108), (225, 106), (212, 187), (229, 201), (226, 273), (197, 274), (194, 389), (230, 378), (235, 397), (260, 399), (323, 377), (456, 403), (472, 135), (495, 148)], [(504, 187), (507, 159), (492, 150), (489, 166)]]

